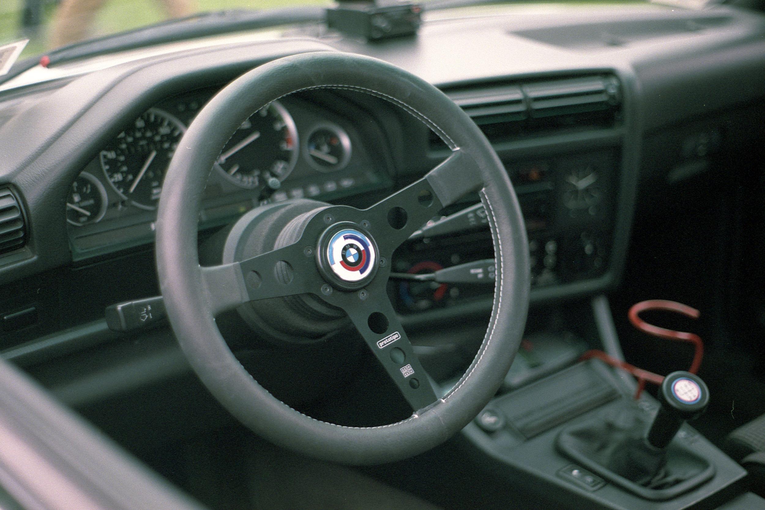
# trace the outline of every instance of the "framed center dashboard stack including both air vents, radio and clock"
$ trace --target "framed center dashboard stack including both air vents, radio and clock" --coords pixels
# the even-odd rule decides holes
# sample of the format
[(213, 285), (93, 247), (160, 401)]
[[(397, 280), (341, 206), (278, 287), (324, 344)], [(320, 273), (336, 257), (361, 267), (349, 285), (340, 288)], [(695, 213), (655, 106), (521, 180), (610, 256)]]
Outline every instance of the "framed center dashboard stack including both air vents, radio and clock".
[[(529, 237), (532, 304), (592, 295), (616, 284), (639, 161), (628, 80), (589, 72), (465, 84), (444, 92), (482, 129), (513, 182)], [(426, 149), (407, 164), (413, 174), (449, 154), (434, 133), (409, 135), (418, 136)], [(444, 213), (478, 201), (476, 195)], [(397, 252), (396, 271), (432, 272), (492, 258), (485, 214), (477, 210), (471, 221), (474, 228), (412, 239)], [(493, 288), (400, 282), (391, 294), (399, 313), (416, 320), (447, 309), (451, 317), (488, 310)]]

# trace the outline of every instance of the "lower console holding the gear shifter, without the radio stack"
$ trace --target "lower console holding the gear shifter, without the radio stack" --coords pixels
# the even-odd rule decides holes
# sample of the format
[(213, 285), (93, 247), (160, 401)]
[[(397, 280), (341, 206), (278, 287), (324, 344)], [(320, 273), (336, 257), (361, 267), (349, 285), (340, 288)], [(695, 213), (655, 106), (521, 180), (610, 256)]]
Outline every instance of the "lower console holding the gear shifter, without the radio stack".
[[(593, 312), (586, 320), (602, 320)], [(554, 362), (549, 346), (538, 349), (529, 339), (516, 359), (532, 353), (537, 365)], [(675, 372), (662, 385), (660, 393), (669, 393), (661, 402), (646, 392), (635, 399), (633, 380), (616, 369), (597, 359), (569, 360), (541, 378), (516, 373), (522, 383), (503, 387), (465, 427), (477, 463), (529, 482), (565, 508), (718, 508), (742, 492), (737, 482), (746, 471), (682, 419), (708, 399), (698, 378)], [(765, 508), (765, 500), (748, 497), (747, 508)]]

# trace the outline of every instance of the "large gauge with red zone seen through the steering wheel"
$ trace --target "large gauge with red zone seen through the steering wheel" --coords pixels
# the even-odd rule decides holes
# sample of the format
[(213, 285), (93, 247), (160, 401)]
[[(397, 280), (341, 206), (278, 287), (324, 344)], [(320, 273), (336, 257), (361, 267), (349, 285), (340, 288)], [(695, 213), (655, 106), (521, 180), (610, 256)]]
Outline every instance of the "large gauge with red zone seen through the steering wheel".
[(215, 166), (237, 186), (252, 189), (271, 177), (285, 180), (297, 158), (295, 121), (281, 103), (274, 101), (239, 126)]

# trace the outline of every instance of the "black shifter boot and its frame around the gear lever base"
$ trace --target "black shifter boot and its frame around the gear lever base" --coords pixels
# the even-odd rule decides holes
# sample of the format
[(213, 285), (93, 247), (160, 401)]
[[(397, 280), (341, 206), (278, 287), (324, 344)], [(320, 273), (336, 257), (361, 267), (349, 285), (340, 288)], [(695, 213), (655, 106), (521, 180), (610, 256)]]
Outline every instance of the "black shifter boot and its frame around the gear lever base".
[(648, 443), (651, 422), (648, 411), (625, 401), (620, 408), (562, 430), (557, 447), (604, 479), (655, 501), (672, 499), (715, 474), (714, 466), (681, 441), (663, 450)]

